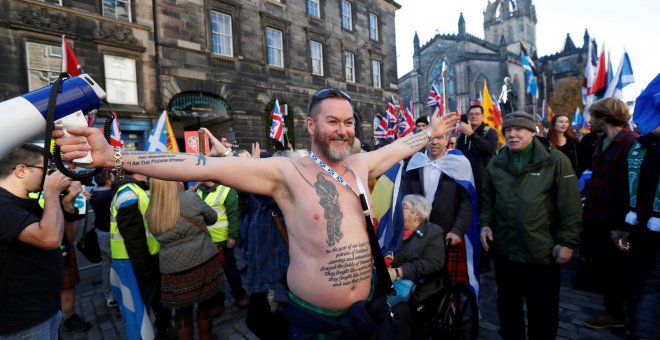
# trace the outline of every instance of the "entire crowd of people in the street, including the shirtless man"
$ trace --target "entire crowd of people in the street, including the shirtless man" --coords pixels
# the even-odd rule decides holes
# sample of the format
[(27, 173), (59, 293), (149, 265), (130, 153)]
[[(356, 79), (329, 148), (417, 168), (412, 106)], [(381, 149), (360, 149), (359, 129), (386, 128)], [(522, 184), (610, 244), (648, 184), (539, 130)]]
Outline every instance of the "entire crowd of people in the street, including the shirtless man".
[[(130, 339), (192, 339), (195, 326), (200, 339), (214, 338), (225, 280), (261, 339), (414, 338), (417, 303), (445, 284), (471, 282), (479, 262), (468, 261), (466, 235), (476, 228), (479, 267), (494, 266), (502, 338), (556, 338), (560, 265), (579, 249), (605, 298), (605, 314), (584, 324), (627, 326), (631, 338), (649, 339), (660, 295), (660, 126), (639, 136), (614, 98), (590, 113), (592, 132), (581, 139), (565, 114), (548, 122), (546, 138), (534, 115), (509, 113), (499, 145), (477, 104), (462, 121), (420, 117), (416, 133), (365, 152), (355, 143), (350, 96), (326, 88), (309, 104), (308, 151), (270, 157), (258, 143), (233, 150), (207, 129), (206, 155), (114, 148), (91, 128), (53, 136), (65, 159), (91, 151), (92, 167), (114, 169), (95, 177), (89, 200), (103, 298), (119, 308)], [(371, 246), (375, 199), (366, 188), (399, 161), (400, 249), (383, 278), (373, 270), (383, 259)], [(75, 314), (76, 279), (63, 279), (82, 186), (55, 171), (40, 188), (42, 163), (33, 145), (0, 160), (0, 339), (56, 339), (63, 318), (65, 328), (67, 320), (69, 329), (89, 328)], [(581, 176), (590, 179), (582, 188)], [(39, 191), (41, 205), (28, 196)], [(378, 314), (379, 295), (388, 293), (380, 288), (397, 280), (412, 281), (414, 294), (394, 318)], [(398, 332), (384, 336), (388, 323)]]

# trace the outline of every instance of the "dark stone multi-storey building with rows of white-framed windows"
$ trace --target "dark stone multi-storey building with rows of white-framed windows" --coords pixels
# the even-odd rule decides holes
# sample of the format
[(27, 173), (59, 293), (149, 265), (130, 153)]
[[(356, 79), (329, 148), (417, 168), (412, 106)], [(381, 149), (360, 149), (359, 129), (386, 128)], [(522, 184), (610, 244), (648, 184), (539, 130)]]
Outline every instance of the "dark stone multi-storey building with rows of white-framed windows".
[[(332, 86), (354, 100), (357, 135), (397, 93), (393, 0), (0, 0), (0, 100), (60, 72), (65, 34), (108, 92), (129, 148), (167, 110), (183, 131), (208, 127), (242, 148), (270, 143), (269, 110), (287, 104), (306, 147), (307, 104)], [(107, 110), (107, 109), (103, 109)], [(100, 122), (95, 125), (100, 126)]]

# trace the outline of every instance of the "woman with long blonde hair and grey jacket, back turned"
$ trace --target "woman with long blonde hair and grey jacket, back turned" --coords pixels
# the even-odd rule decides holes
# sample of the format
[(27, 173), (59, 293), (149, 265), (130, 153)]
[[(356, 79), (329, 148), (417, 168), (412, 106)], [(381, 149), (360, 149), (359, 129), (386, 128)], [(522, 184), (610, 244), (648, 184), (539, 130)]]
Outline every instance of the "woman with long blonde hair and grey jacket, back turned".
[(217, 213), (180, 182), (151, 179), (146, 219), (160, 243), (161, 300), (176, 310), (179, 339), (193, 339), (197, 304), (200, 339), (213, 339), (213, 300), (224, 287), (218, 250), (206, 226)]

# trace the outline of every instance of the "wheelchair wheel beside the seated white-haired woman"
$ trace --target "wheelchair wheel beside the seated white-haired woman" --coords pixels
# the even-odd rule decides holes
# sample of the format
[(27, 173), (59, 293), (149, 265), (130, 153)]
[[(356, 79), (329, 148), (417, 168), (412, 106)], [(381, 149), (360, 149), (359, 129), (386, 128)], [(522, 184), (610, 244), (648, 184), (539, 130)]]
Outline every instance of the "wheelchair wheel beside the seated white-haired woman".
[(463, 283), (447, 289), (438, 307), (433, 338), (474, 340), (479, 333), (479, 309), (472, 290)]

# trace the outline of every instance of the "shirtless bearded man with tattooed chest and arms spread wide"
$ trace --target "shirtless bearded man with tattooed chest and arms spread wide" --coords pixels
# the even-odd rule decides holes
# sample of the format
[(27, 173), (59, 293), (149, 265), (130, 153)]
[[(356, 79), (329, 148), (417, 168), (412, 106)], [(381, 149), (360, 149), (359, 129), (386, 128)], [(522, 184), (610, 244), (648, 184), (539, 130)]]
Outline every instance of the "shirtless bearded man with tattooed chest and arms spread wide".
[[(272, 196), (282, 210), (289, 234), (290, 296), (319, 309), (345, 311), (355, 302), (367, 299), (372, 288), (371, 250), (357, 181), (366, 188), (368, 178), (380, 176), (399, 160), (421, 150), (432, 137), (443, 137), (459, 119), (444, 115), (433, 119), (430, 128), (377, 151), (351, 154), (353, 117), (353, 106), (346, 93), (323, 89), (312, 97), (306, 122), (312, 137), (311, 151), (352, 190), (328, 175), (311, 157), (214, 157), (198, 165), (198, 156), (191, 154), (118, 152), (98, 129), (68, 129), (72, 135), (83, 137), (64, 138), (61, 131), (53, 132), (53, 136), (58, 138), (57, 144), (67, 160), (91, 150), (93, 167), (123, 163), (126, 170), (154, 178), (211, 180)], [(224, 154), (226, 150), (219, 144), (214, 143), (215, 153)], [(366, 195), (371, 204), (368, 191)]]

